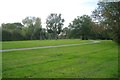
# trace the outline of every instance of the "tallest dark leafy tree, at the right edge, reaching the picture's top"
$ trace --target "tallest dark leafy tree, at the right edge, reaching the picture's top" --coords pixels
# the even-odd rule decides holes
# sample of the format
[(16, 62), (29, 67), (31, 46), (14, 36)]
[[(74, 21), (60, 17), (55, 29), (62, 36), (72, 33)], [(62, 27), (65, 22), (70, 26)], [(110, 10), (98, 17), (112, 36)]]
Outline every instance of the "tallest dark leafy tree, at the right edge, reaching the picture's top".
[(104, 22), (112, 29), (114, 41), (120, 43), (120, 2), (98, 2), (98, 8), (93, 11), (93, 18)]

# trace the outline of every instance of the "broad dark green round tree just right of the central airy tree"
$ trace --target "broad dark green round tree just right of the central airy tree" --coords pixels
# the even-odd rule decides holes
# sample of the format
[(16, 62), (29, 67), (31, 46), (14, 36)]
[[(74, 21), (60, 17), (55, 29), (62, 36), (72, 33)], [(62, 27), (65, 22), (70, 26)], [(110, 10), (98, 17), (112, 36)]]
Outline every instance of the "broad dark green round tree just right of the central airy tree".
[(78, 16), (69, 24), (69, 27), (73, 37), (88, 39), (91, 34), (92, 19), (88, 15)]

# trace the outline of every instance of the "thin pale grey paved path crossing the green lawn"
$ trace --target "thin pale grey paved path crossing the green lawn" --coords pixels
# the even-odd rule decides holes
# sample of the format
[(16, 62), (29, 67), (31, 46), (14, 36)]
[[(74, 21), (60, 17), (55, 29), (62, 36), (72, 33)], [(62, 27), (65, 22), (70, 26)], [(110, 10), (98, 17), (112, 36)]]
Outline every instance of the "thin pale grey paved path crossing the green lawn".
[(41, 46), (41, 47), (31, 47), (31, 48), (5, 49), (5, 50), (0, 50), (0, 52), (22, 51), (22, 50), (43, 49), (43, 48), (56, 48), (56, 47), (64, 47), (64, 46), (79, 46), (79, 45), (85, 45), (85, 44), (96, 44), (99, 42), (100, 41), (92, 41), (92, 42), (81, 43), (81, 44), (65, 44), (65, 45), (56, 45), (56, 46)]

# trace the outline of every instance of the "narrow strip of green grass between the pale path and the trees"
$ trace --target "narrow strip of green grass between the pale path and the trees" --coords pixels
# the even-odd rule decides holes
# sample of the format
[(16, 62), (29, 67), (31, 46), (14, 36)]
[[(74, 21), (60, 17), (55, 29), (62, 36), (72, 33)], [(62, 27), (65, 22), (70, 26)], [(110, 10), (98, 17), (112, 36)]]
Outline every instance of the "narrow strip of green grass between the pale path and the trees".
[(29, 48), (39, 46), (54, 46), (62, 44), (80, 44), (83, 42), (90, 42), (79, 39), (64, 39), (64, 40), (28, 40), (28, 41), (4, 41), (2, 42), (2, 49), (12, 48)]

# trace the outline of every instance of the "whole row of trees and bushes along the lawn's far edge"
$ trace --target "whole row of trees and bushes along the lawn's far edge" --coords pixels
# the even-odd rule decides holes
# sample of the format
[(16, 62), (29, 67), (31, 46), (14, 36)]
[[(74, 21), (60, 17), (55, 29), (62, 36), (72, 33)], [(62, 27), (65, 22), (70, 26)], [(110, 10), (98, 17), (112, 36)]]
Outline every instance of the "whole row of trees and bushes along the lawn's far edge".
[(46, 19), (46, 28), (41, 18), (26, 17), (22, 23), (2, 24), (2, 40), (44, 39), (102, 39), (120, 43), (120, 2), (98, 2), (91, 16), (77, 16), (68, 26), (61, 14), (51, 13)]

